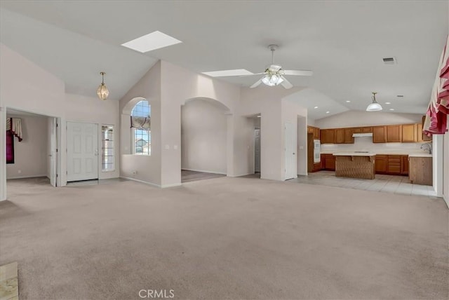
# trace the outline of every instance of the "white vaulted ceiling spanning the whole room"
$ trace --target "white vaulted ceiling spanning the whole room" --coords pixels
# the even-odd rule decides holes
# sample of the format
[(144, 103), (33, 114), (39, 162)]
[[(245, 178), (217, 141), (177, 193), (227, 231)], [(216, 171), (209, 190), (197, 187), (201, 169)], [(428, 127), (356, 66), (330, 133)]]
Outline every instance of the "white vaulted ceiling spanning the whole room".
[[(293, 85), (316, 90), (303, 103), (309, 111), (326, 106), (326, 98), (328, 107), (310, 113), (314, 118), (344, 108), (364, 110), (372, 91), (382, 105), (391, 102), (388, 107), (395, 112), (423, 113), (449, 12), (448, 1), (430, 0), (2, 0), (0, 8), (2, 43), (59, 76), (68, 93), (95, 95), (98, 72), (106, 71), (113, 99), (120, 99), (157, 59), (197, 72), (257, 73), (271, 62), (267, 45), (277, 43), (274, 59), (284, 69), (314, 71), (311, 77), (288, 76)], [(183, 43), (146, 54), (120, 46), (156, 30)], [(391, 56), (398, 64), (383, 64), (382, 57)], [(250, 86), (257, 79), (221, 80)]]

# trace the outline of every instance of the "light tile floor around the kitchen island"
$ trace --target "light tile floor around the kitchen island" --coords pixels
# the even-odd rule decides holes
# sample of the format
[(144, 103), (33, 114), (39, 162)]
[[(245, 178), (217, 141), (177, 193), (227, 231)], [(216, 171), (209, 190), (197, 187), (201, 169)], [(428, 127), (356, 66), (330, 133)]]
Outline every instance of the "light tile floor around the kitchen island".
[(299, 175), (297, 178), (290, 179), (287, 182), (338, 186), (347, 189), (364, 189), (366, 191), (381, 191), (384, 193), (401, 193), (405, 195), (437, 198), (432, 186), (410, 184), (406, 176), (376, 175), (375, 179), (354, 179), (335, 177), (335, 172), (333, 171), (320, 171), (309, 173), (308, 176)]

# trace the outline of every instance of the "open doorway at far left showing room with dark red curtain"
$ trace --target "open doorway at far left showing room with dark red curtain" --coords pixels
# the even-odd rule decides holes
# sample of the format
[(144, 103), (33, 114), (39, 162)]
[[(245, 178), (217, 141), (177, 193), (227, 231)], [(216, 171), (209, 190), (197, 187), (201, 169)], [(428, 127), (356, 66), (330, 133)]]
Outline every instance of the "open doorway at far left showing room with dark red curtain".
[(27, 186), (58, 186), (59, 118), (6, 109), (8, 197)]

